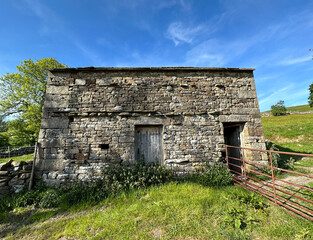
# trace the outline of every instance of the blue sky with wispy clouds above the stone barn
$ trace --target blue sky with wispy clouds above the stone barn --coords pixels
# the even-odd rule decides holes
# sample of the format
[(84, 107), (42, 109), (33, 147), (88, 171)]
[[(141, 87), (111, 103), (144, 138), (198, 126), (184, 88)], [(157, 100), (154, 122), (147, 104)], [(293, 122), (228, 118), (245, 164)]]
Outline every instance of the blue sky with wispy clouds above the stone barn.
[(70, 67), (252, 67), (261, 111), (307, 104), (313, 1), (1, 0), (0, 74)]

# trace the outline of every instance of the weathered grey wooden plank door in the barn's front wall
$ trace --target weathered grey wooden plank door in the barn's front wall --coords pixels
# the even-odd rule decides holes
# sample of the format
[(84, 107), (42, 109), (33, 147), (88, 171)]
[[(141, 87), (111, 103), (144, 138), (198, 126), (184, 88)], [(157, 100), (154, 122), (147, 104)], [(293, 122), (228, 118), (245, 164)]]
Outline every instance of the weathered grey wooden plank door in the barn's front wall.
[(162, 163), (162, 126), (136, 126), (136, 160)]

